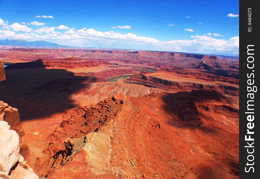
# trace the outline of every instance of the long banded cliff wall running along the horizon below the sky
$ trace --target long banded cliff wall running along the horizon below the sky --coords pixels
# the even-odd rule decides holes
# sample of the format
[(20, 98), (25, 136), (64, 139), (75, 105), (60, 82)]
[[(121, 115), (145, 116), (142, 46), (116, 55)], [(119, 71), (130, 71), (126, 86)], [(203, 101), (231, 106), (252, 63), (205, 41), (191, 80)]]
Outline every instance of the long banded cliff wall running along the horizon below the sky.
[[(36, 59), (55, 59), (77, 56), (84, 59), (93, 60), (119, 60), (126, 63), (142, 64), (150, 61), (151, 64), (160, 64), (165, 62), (172, 62), (178, 64), (179, 62), (187, 62), (191, 64), (198, 64), (205, 61), (208, 64), (226, 65), (235, 64), (237, 66), (238, 57), (223, 57), (214, 55), (202, 55), (191, 53), (176, 53), (176, 52), (160, 52), (160, 51), (134, 51), (134, 50), (103, 50), (103, 49), (26, 49), (26, 48), (12, 48), (1, 53), (1, 56), (6, 59), (7, 57), (20, 58), (20, 61), (34, 61)], [(228, 61), (227, 61), (228, 59)], [(193, 61), (193, 62), (192, 62)], [(233, 61), (233, 62), (231, 62)], [(178, 63), (177, 63), (178, 62)]]

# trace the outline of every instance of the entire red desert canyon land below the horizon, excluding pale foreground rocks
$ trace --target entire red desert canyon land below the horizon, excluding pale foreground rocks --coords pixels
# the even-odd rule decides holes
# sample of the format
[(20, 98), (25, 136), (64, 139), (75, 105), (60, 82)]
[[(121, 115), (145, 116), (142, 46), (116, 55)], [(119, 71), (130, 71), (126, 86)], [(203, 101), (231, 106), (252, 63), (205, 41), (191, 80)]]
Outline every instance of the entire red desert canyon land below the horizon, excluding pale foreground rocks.
[[(239, 178), (238, 57), (0, 50), (39, 178)], [(6, 104), (6, 105), (7, 105)]]

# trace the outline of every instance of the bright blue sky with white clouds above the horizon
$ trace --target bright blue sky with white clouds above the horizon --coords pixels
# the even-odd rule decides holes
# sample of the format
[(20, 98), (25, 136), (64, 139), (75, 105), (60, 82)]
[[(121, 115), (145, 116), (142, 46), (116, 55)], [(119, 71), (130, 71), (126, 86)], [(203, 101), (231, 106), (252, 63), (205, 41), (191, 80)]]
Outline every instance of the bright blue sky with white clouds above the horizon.
[(239, 51), (239, 1), (1, 0), (0, 18), (0, 39), (191, 53)]

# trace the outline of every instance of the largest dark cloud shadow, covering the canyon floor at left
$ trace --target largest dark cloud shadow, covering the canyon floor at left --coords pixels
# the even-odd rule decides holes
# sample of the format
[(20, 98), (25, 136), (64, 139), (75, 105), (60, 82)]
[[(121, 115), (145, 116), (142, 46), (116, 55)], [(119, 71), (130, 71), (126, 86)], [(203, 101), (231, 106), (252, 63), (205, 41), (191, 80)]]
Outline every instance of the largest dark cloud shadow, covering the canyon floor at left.
[(5, 69), (0, 100), (19, 110), (21, 120), (64, 112), (77, 106), (70, 95), (96, 81), (94, 76), (75, 76), (65, 69)]

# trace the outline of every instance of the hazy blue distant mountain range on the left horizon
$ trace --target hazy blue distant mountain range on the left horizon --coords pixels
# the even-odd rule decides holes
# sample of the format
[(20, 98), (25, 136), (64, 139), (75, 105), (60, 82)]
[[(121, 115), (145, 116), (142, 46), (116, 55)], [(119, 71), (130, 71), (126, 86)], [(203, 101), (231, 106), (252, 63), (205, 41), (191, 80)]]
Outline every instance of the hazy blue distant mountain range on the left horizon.
[(60, 48), (60, 47), (70, 47), (71, 48), (71, 46), (59, 45), (59, 44), (47, 42), (44, 40), (30, 42), (30, 41), (26, 41), (26, 40), (5, 39), (5, 40), (0, 40), (0, 45), (34, 47), (34, 48)]

